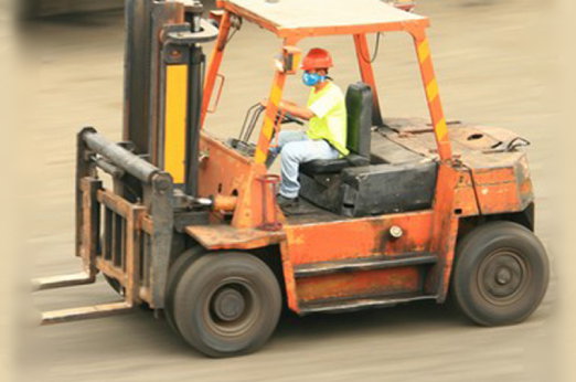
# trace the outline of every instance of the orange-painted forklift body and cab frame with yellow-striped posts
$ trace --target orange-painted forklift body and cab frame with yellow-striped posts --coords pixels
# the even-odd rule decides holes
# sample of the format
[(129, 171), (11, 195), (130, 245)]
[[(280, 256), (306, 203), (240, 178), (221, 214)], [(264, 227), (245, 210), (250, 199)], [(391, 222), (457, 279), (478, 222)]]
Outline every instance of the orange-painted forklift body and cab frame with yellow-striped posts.
[[(282, 97), (286, 73), (276, 70), (268, 96), (264, 123), (254, 157), (243, 156), (203, 132), (200, 167), (201, 197), (237, 197), (230, 222), (226, 213), (217, 224), (188, 226), (186, 233), (207, 250), (252, 250), (279, 245), (288, 305), (300, 311), (312, 300), (351, 296), (423, 293), (444, 301), (447, 295), (458, 235), (459, 219), (479, 214), (522, 211), (532, 198), (525, 161), (520, 166), (480, 168), (455, 160), (448, 124), (444, 116), (426, 28), (426, 18), (363, 25), (282, 28), (234, 1), (217, 1), (224, 10), (221, 34), (206, 72), (202, 123), (218, 75), (225, 42), (233, 18), (242, 18), (271, 31), (284, 40), (284, 47), (311, 36), (349, 34), (353, 38), (363, 82), (373, 91), (374, 120), (381, 120), (376, 84), (369, 57), (366, 34), (403, 31), (413, 36), (436, 144), (438, 176), (433, 208), (426, 211), (372, 217), (342, 217), (329, 222), (291, 222), (277, 208), (274, 188), (263, 187), (264, 162), (275, 129), (278, 103)], [(462, 163), (463, 162), (463, 163)], [(218, 213), (216, 211), (216, 213)], [(266, 222), (281, 223), (278, 230), (260, 230)], [(390, 230), (398, 226), (401, 237)], [(319, 274), (299, 278), (296, 269), (310, 264), (434, 253), (438, 261), (426, 273), (417, 265), (338, 274)]]

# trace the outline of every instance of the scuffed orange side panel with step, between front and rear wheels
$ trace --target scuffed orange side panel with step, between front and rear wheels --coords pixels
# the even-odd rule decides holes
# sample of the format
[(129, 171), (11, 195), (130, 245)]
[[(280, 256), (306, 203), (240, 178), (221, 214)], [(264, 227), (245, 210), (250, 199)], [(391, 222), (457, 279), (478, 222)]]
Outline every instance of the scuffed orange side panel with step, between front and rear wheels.
[[(392, 258), (407, 252), (426, 252), (430, 242), (431, 221), (431, 211), (321, 222), (290, 220), (290, 224), (285, 224), (287, 240), (280, 243), (288, 307), (298, 312), (302, 298), (331, 298), (346, 289), (349, 297), (358, 297), (354, 294), (401, 290), (394, 288), (404, 283), (405, 288), (402, 290), (414, 291), (415, 283), (422, 279), (418, 278), (420, 276), (415, 276), (418, 273), (415, 267), (412, 270), (401, 270), (399, 274), (406, 273), (402, 283), (399, 279), (392, 279), (392, 276), (382, 277), (403, 268), (296, 279), (295, 267), (318, 262), (385, 256)], [(390, 235), (393, 225), (402, 227), (402, 237), (395, 240)], [(370, 287), (371, 283), (373, 287)], [(338, 291), (338, 288), (341, 290)]]

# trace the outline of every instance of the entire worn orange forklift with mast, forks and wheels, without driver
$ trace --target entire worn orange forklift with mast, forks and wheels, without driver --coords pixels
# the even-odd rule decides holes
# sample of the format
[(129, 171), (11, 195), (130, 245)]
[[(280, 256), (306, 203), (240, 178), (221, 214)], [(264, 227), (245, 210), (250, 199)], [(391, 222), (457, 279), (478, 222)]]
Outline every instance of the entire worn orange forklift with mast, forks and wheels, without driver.
[[(102, 273), (121, 300), (45, 311), (43, 325), (147, 306), (200, 352), (232, 357), (263, 347), (282, 307), (340, 312), (450, 295), (480, 326), (521, 322), (538, 307), (548, 261), (533, 233), (529, 142), (445, 118), (428, 18), (405, 1), (364, 0), (354, 12), (345, 0), (216, 7), (205, 18), (199, 1), (126, 0), (122, 141), (93, 127), (77, 135), (83, 272), (35, 280), (42, 290)], [(205, 119), (242, 22), (274, 33), (281, 49), (270, 52), (267, 102), (222, 140)], [(412, 38), (429, 119), (382, 116), (366, 36), (392, 32)], [(331, 35), (350, 36), (358, 59), (359, 82), (345, 94), (351, 153), (302, 163), (300, 205), (285, 214), (266, 162), (282, 125), (302, 121), (278, 104), (299, 70), (298, 43)], [(202, 44), (212, 41), (206, 66)]]

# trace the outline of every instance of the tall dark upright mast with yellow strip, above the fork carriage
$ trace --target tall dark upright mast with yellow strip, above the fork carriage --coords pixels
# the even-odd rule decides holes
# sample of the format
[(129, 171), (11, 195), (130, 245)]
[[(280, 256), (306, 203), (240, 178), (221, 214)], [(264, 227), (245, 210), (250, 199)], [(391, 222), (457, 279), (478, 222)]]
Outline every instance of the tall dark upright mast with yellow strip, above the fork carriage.
[(201, 19), (196, 0), (126, 0), (125, 12), (122, 139), (195, 197), (205, 64), (199, 43), (217, 30)]

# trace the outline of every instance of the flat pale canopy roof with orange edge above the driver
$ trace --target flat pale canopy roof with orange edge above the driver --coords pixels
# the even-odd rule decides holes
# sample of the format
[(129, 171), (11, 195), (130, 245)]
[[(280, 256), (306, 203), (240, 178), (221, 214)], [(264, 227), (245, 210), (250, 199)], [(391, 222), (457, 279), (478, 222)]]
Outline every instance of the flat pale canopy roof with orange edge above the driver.
[(222, 0), (224, 9), (282, 38), (426, 28), (428, 19), (383, 0)]

